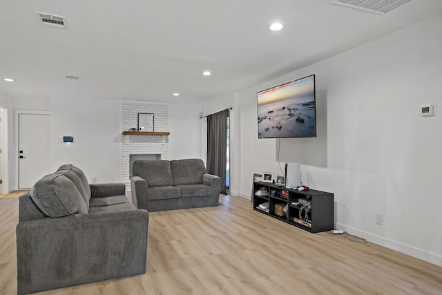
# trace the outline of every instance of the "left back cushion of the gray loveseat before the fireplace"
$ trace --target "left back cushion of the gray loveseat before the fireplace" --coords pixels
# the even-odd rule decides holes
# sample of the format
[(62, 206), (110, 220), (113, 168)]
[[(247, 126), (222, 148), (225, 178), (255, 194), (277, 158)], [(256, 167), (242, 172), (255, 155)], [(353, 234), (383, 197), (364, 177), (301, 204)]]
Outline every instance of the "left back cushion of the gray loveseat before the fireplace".
[(171, 163), (166, 160), (138, 160), (132, 165), (132, 175), (147, 181), (148, 187), (173, 185)]

